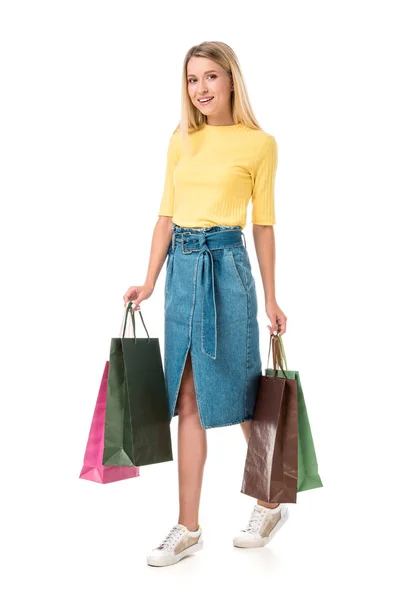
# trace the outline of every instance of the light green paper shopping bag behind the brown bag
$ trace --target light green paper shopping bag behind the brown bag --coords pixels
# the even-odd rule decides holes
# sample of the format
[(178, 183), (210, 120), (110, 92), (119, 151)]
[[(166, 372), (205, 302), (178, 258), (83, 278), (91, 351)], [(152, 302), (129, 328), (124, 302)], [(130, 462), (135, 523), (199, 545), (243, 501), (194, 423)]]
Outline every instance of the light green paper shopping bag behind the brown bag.
[[(283, 347), (282, 336), (278, 332), (278, 341), (280, 354), (284, 363), (285, 373), (288, 379), (295, 379), (297, 382), (297, 398), (298, 398), (298, 480), (297, 491), (304, 492), (323, 487), (321, 477), (318, 474), (317, 456), (314, 448), (314, 441), (311, 434), (310, 422), (306, 403), (304, 400), (303, 389), (300, 382), (300, 374), (298, 371), (288, 371), (285, 350)], [(265, 375), (274, 376), (274, 369), (265, 369)], [(275, 377), (285, 377), (281, 370), (277, 369)]]

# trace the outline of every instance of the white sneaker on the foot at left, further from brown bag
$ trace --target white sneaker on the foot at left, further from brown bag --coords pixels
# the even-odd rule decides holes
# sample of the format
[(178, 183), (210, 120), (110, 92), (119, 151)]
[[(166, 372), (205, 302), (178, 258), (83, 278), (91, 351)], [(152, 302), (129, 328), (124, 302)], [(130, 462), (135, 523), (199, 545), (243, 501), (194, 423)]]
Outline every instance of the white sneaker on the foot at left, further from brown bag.
[(203, 547), (201, 525), (197, 531), (189, 531), (184, 525), (174, 525), (161, 544), (147, 556), (147, 564), (153, 567), (166, 567), (177, 563), (181, 558)]

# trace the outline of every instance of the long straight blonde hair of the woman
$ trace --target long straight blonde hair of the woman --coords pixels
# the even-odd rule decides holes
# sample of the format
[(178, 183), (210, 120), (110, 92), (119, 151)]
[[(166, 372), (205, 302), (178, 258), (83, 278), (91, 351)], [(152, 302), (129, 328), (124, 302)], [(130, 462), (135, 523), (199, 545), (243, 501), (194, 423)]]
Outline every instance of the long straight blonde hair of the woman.
[(184, 145), (188, 146), (189, 134), (206, 122), (206, 117), (196, 108), (187, 91), (187, 64), (192, 56), (209, 58), (229, 75), (233, 83), (231, 92), (232, 116), (235, 124), (242, 123), (253, 129), (261, 129), (250, 104), (239, 60), (230, 46), (224, 42), (202, 42), (192, 46), (186, 53), (182, 71), (181, 119), (174, 130), (181, 131)]

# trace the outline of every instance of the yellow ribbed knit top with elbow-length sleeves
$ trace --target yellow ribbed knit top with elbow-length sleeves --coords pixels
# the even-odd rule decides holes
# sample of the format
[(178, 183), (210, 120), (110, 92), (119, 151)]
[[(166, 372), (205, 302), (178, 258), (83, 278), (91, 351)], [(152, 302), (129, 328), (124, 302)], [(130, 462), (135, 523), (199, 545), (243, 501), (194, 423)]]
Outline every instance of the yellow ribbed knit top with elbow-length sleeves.
[(164, 191), (158, 215), (180, 227), (275, 224), (277, 144), (273, 135), (241, 123), (203, 124), (190, 133), (184, 151), (181, 132), (169, 140)]

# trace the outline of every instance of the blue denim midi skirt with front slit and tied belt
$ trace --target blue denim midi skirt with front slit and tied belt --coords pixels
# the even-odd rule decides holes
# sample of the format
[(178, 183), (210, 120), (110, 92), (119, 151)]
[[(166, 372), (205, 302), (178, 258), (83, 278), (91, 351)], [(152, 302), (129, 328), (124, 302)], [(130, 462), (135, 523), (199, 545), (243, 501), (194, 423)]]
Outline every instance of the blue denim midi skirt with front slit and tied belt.
[(172, 224), (164, 289), (170, 421), (188, 352), (203, 429), (251, 421), (261, 376), (255, 281), (240, 226)]

